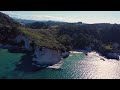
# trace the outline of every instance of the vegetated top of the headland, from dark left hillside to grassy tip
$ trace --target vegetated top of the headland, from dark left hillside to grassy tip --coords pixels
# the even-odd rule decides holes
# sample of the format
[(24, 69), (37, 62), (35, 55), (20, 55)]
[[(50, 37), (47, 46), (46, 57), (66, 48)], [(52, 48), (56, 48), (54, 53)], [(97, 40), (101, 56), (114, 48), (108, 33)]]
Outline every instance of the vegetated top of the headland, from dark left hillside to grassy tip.
[(61, 44), (57, 42), (56, 31), (49, 29), (31, 29), (24, 27), (17, 20), (13, 20), (6, 14), (0, 13), (0, 43), (14, 45), (14, 39), (18, 35), (24, 35), (30, 39), (30, 42), (38, 46), (44, 46), (51, 49), (60, 49)]

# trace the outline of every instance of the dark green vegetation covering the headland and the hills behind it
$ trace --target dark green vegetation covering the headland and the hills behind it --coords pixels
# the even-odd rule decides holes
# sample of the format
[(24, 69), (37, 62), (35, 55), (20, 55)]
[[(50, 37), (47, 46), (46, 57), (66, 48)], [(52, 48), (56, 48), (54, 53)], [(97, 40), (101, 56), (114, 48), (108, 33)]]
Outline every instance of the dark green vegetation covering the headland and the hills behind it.
[(112, 48), (113, 43), (120, 44), (119, 24), (82, 24), (66, 22), (15, 22), (9, 16), (0, 13), (0, 43), (13, 43), (17, 35), (24, 35), (35, 45), (61, 50), (85, 49), (91, 47), (97, 51), (119, 52)]

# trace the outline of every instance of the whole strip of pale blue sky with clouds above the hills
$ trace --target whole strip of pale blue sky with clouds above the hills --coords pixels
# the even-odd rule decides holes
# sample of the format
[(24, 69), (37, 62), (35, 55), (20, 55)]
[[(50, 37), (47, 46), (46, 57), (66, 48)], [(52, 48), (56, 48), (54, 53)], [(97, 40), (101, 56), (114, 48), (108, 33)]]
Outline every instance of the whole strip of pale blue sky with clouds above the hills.
[(11, 17), (83, 23), (120, 24), (120, 11), (0, 11)]

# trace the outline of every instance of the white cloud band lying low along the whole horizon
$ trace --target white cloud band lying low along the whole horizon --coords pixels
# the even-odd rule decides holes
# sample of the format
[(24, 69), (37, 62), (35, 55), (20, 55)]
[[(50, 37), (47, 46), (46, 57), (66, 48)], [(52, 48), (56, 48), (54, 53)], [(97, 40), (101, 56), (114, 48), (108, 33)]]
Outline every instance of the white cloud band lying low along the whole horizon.
[(22, 15), (11, 11), (2, 11), (11, 17), (31, 20), (55, 20), (65, 22), (83, 22), (83, 23), (120, 23), (118, 17), (95, 17), (95, 16), (80, 16), (80, 17), (61, 17), (61, 16), (49, 16), (49, 15)]

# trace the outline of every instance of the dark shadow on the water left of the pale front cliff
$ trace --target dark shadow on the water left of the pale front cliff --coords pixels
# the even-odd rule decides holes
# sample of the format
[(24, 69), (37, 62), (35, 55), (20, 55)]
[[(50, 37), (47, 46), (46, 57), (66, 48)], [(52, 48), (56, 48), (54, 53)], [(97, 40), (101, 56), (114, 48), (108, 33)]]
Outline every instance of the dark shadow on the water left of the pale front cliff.
[(32, 65), (32, 58), (33, 56), (31, 53), (22, 56), (21, 60), (16, 64), (15, 70), (23, 72), (35, 72), (41, 70), (41, 68)]

